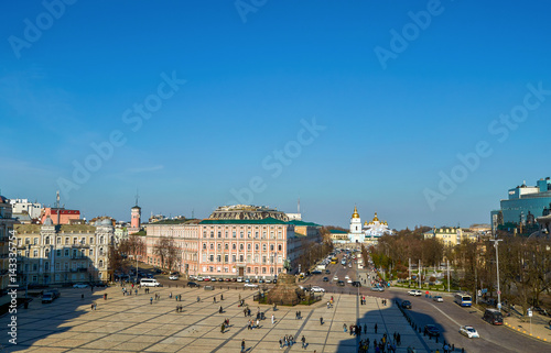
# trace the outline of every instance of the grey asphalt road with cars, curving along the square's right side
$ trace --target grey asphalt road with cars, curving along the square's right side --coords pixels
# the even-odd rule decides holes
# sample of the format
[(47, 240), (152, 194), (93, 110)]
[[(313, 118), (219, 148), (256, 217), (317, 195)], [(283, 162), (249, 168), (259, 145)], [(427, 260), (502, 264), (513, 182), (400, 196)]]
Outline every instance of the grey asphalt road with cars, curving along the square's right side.
[[(338, 256), (337, 264), (329, 265), (327, 268), (331, 275), (314, 275), (309, 277), (305, 285), (316, 285), (324, 288), (327, 295), (331, 293), (350, 293), (365, 296), (375, 296), (387, 298), (389, 300), (410, 300), (412, 309), (409, 310), (413, 321), (418, 327), (423, 328), (425, 324), (435, 324), (442, 332), (442, 338), (446, 342), (453, 343), (457, 348), (465, 348), (467, 352), (548, 352), (551, 350), (551, 344), (528, 338), (516, 333), (506, 327), (491, 326), (482, 320), (482, 312), (474, 308), (463, 308), (453, 302), (451, 295), (442, 295), (444, 302), (433, 301), (431, 298), (412, 297), (402, 288), (389, 288), (383, 293), (371, 291), (370, 286), (366, 287), (363, 282), (361, 288), (355, 288), (350, 284), (345, 284), (345, 287), (337, 287), (333, 282), (333, 276), (339, 279), (349, 276), (352, 280), (366, 278), (365, 271), (358, 272), (356, 266), (349, 268), (341, 265), (342, 255)], [(323, 282), (323, 277), (327, 276), (329, 282)], [(461, 326), (473, 326), (479, 333), (480, 339), (467, 339), (458, 333)], [(426, 338), (428, 339), (428, 338)], [(442, 339), (441, 339), (442, 340)]]

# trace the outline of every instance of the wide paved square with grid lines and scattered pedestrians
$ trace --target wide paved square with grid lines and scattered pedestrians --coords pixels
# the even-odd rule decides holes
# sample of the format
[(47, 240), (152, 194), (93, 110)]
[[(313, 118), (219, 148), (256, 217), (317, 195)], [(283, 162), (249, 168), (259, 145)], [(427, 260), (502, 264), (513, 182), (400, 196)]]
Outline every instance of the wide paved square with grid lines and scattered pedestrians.
[[(435, 350), (436, 345), (424, 342), (407, 323), (393, 305), (382, 306), (380, 299), (366, 297), (365, 306), (358, 305), (354, 295), (334, 295), (334, 306), (327, 309), (326, 301), (312, 307), (259, 306), (252, 301), (253, 290), (239, 290), (236, 286), (216, 286), (216, 290), (195, 288), (152, 288), (150, 294), (140, 289), (138, 296), (123, 296), (120, 287), (101, 290), (62, 289), (62, 296), (53, 304), (43, 305), (40, 298), (33, 300), (29, 309), (18, 310), (18, 344), (2, 337), (6, 352), (239, 352), (245, 339), (247, 352), (357, 352), (360, 339), (379, 341), (383, 333), (389, 338), (395, 332), (401, 334), (401, 345), (397, 352), (406, 352), (409, 345), (418, 352)], [(170, 298), (172, 293), (173, 297)], [(84, 299), (82, 295), (84, 294)], [(104, 300), (107, 294), (107, 300)], [(155, 294), (160, 299), (151, 302)], [(225, 300), (220, 301), (220, 294)], [(175, 295), (182, 295), (176, 301)], [(201, 300), (197, 301), (197, 296)], [(217, 298), (217, 302), (213, 301)], [(239, 298), (251, 309), (251, 317), (238, 307)], [(331, 295), (326, 294), (326, 298)], [(97, 304), (97, 310), (91, 305)], [(182, 312), (176, 311), (182, 306)], [(218, 310), (223, 307), (224, 312)], [(260, 327), (248, 329), (247, 322), (256, 319), (261, 310), (266, 320)], [(296, 319), (296, 310), (302, 319)], [(271, 316), (276, 322), (271, 323)], [(321, 318), (324, 323), (321, 324)], [(224, 319), (229, 327), (220, 332)], [(9, 316), (0, 319), (7, 330)], [(344, 332), (343, 324), (359, 323), (367, 328), (361, 337)], [(378, 324), (375, 334), (374, 326)], [(348, 330), (347, 330), (348, 331)], [(279, 340), (284, 335), (294, 337), (292, 346), (280, 349)], [(301, 349), (301, 338), (307, 346)], [(372, 351), (372, 345), (370, 348)]]

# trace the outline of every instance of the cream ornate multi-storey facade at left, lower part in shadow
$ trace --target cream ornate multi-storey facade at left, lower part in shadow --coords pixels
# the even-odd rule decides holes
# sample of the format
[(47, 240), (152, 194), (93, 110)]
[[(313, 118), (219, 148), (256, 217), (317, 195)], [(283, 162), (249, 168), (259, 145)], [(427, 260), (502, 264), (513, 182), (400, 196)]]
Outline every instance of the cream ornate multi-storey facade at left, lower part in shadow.
[(109, 249), (114, 242), (111, 222), (54, 225), (15, 224), (18, 282), (67, 284), (109, 280)]

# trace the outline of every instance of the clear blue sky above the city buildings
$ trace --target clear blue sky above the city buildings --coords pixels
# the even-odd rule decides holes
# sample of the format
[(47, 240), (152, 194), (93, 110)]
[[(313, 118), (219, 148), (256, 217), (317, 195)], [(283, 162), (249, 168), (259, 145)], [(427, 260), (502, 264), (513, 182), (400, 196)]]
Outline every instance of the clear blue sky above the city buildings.
[(488, 222), (551, 175), (547, 2), (44, 3), (0, 5), (9, 198), (129, 220), (137, 189), (145, 217), (300, 197), (402, 229)]

